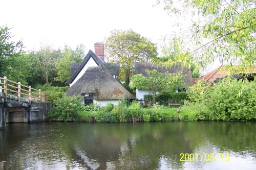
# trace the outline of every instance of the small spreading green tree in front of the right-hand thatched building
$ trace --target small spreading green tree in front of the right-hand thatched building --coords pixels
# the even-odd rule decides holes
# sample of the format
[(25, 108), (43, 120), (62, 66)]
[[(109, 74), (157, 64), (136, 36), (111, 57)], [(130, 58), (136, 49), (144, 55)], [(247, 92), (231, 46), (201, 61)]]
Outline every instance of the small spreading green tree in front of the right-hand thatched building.
[(162, 74), (153, 69), (146, 70), (147, 77), (142, 74), (134, 75), (132, 77), (133, 86), (139, 90), (147, 90), (153, 95), (153, 103), (156, 103), (157, 92), (160, 93), (174, 93), (176, 89), (184, 87), (182, 76), (165, 73)]

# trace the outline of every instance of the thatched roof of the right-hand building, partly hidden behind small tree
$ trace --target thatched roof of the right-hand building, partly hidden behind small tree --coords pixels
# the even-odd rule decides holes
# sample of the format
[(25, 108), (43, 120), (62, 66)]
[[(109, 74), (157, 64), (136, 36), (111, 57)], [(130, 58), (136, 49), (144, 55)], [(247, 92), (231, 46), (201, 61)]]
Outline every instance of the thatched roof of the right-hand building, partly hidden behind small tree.
[[(151, 63), (148, 63), (148, 62), (137, 62), (137, 63), (134, 63), (134, 65), (135, 65), (135, 72), (134, 72), (135, 75), (142, 74), (143, 76), (147, 76), (146, 70), (153, 70), (153, 69), (156, 69), (162, 73), (169, 72), (170, 74), (174, 74), (176, 72), (181, 71), (181, 67), (178, 66), (178, 64), (171, 68), (164, 67), (159, 64), (152, 65)], [(192, 73), (189, 68), (183, 68), (182, 75), (183, 76), (186, 75), (184, 77), (185, 87), (193, 85)]]

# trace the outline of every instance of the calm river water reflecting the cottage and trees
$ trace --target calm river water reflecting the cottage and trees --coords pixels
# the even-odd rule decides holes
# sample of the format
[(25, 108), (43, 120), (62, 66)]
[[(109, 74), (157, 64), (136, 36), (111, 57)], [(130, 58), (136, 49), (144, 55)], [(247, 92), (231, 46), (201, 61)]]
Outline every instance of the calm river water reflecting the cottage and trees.
[[(6, 169), (253, 169), (255, 122), (8, 124), (0, 131)], [(180, 161), (183, 153), (230, 160)]]

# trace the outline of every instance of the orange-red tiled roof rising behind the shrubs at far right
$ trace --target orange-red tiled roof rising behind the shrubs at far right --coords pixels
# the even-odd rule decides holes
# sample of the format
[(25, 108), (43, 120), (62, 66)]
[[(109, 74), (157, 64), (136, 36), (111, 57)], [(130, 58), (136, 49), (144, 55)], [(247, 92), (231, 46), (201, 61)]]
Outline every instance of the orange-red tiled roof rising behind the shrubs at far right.
[[(200, 79), (204, 79), (206, 81), (216, 81), (219, 78), (224, 78), (228, 76), (228, 70), (225, 69), (226, 66), (221, 65), (216, 69), (210, 71), (208, 74), (202, 76)], [(230, 66), (229, 66), (230, 67)], [(238, 66), (234, 66), (234, 69), (238, 69)], [(256, 73), (256, 65), (253, 68), (247, 68), (246, 73)], [(245, 72), (237, 72), (237, 74), (243, 74)], [(198, 81), (198, 80), (197, 80)]]

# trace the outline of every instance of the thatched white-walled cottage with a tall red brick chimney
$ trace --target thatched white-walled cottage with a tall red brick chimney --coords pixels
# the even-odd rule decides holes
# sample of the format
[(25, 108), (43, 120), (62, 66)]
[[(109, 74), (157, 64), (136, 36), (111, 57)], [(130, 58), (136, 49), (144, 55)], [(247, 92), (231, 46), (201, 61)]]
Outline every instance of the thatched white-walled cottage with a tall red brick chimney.
[(114, 105), (122, 98), (134, 99), (117, 79), (119, 65), (104, 62), (104, 45), (95, 43), (95, 54), (90, 50), (82, 63), (72, 63), (71, 78), (66, 82), (70, 88), (67, 95), (82, 95), (84, 104)]

